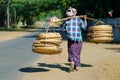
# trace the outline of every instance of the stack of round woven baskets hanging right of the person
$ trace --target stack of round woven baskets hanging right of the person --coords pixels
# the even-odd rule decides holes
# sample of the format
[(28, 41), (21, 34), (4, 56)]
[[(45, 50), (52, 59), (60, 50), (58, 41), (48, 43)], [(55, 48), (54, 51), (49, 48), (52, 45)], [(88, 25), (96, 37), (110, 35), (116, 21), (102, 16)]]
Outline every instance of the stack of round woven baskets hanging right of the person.
[(111, 42), (112, 26), (111, 25), (96, 25), (88, 28), (88, 40), (95, 43)]

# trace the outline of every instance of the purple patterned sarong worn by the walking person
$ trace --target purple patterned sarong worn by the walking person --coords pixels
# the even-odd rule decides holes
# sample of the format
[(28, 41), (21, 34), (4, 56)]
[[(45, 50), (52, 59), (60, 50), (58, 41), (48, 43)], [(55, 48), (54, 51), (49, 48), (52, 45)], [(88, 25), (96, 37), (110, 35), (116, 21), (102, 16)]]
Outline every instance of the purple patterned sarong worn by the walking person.
[(82, 41), (72, 41), (68, 39), (68, 62), (74, 62), (76, 66), (81, 66), (80, 54), (82, 49)]

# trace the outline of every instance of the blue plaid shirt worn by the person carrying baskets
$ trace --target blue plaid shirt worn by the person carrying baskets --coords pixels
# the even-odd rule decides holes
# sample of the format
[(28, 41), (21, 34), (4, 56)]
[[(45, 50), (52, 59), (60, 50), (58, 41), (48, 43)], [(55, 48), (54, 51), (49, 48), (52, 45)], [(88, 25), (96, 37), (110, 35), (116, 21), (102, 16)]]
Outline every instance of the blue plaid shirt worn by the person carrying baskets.
[(87, 27), (87, 22), (83, 22), (82, 19), (74, 17), (63, 22), (60, 26), (62, 29), (65, 29), (67, 32), (67, 37), (73, 41), (82, 41), (82, 31)]

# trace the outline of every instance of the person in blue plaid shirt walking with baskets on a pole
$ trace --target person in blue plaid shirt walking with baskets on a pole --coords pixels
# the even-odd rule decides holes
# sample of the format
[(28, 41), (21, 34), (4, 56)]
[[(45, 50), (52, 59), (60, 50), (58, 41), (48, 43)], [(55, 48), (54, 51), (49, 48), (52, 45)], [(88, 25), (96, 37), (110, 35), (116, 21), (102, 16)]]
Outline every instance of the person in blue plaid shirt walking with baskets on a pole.
[(86, 29), (87, 22), (86, 16), (83, 16), (84, 21), (78, 17), (76, 17), (77, 10), (75, 8), (70, 7), (66, 11), (66, 15), (68, 17), (72, 17), (70, 19), (65, 20), (60, 26), (62, 29), (65, 29), (68, 38), (68, 61), (70, 62), (69, 72), (77, 71), (77, 67), (81, 66), (80, 63), (80, 54), (82, 49), (82, 30)]

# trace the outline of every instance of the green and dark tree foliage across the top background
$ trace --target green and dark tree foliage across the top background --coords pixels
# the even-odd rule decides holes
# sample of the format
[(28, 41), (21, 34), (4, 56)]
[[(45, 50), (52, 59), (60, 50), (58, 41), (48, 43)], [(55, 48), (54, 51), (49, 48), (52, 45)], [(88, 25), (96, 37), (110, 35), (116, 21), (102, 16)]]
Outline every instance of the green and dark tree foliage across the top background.
[[(6, 6), (8, 0), (0, 0), (0, 25), (6, 22)], [(56, 15), (66, 17), (65, 11), (72, 6), (77, 9), (77, 15), (86, 14), (89, 17), (120, 17), (120, 0), (10, 0), (10, 21), (26, 21), (31, 25), (36, 20), (47, 20)]]

